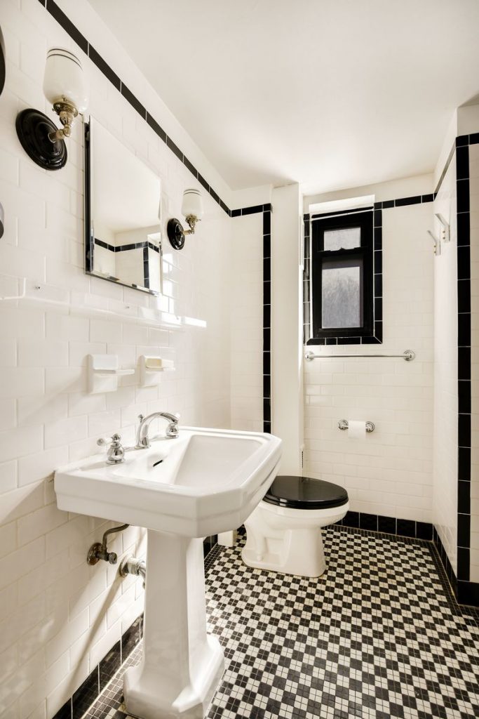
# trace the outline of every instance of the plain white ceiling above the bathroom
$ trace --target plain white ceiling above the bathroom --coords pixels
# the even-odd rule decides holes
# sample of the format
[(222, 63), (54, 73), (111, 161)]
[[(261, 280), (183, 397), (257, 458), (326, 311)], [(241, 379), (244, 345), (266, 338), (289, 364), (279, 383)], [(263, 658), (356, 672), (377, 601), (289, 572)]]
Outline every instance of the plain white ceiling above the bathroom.
[(428, 173), (479, 92), (478, 0), (90, 3), (233, 189)]

